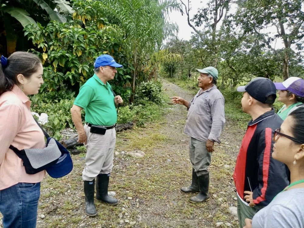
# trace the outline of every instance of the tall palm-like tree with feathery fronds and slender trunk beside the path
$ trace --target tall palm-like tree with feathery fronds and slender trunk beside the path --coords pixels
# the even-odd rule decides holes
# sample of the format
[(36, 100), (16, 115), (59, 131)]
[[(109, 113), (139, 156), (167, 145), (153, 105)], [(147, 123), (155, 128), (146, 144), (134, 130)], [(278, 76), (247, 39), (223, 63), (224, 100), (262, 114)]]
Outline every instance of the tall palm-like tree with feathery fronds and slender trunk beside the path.
[(147, 59), (161, 49), (162, 41), (177, 31), (177, 26), (166, 22), (169, 10), (179, 9), (175, 0), (109, 0), (103, 2), (103, 16), (109, 23), (117, 24), (125, 31), (125, 49), (130, 67), (133, 67), (132, 95), (136, 90), (136, 78), (145, 68)]

